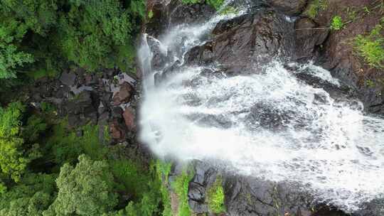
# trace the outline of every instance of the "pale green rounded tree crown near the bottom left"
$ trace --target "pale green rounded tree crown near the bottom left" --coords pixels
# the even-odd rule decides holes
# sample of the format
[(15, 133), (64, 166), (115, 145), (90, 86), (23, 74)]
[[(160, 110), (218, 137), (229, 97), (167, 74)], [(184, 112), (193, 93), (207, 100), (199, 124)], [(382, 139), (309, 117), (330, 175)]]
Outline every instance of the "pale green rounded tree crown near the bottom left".
[(58, 197), (43, 215), (102, 215), (117, 205), (113, 175), (106, 161), (92, 161), (85, 155), (79, 163), (65, 163), (56, 179)]

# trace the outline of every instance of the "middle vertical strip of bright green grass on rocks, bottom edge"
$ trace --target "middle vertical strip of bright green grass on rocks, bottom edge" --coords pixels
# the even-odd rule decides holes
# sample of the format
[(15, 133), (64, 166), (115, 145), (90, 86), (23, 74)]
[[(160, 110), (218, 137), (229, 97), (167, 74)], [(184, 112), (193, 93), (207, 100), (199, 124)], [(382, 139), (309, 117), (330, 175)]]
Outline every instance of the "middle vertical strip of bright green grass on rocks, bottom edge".
[(188, 173), (186, 170), (183, 170), (182, 173), (175, 178), (172, 184), (172, 188), (174, 188), (174, 191), (178, 196), (179, 216), (191, 215), (191, 209), (188, 205), (188, 184), (191, 178), (193, 178), (193, 173)]

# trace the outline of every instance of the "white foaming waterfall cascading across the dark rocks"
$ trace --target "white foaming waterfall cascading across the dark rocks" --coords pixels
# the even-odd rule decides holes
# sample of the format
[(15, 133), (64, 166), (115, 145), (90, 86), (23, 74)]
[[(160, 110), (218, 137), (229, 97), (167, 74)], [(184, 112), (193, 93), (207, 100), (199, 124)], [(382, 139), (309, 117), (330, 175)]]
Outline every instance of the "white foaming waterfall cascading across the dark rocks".
[[(159, 43), (174, 51), (173, 62), (183, 63), (220, 18), (226, 17), (176, 26)], [(145, 43), (140, 58), (149, 65)], [(346, 211), (384, 193), (384, 120), (364, 114), (360, 102), (338, 101), (295, 76), (309, 71), (338, 85), (328, 71), (309, 64), (291, 72), (278, 62), (253, 75), (207, 75), (206, 69), (183, 66), (154, 85), (161, 71), (146, 68), (140, 136), (154, 153), (217, 160), (245, 175), (299, 182)]]

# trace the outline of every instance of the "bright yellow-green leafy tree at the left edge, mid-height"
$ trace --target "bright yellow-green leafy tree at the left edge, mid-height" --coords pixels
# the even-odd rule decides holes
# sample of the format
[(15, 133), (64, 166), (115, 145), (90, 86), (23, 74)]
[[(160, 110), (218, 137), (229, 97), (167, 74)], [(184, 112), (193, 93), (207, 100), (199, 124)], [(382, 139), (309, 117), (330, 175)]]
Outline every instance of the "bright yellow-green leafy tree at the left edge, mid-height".
[(6, 109), (0, 107), (0, 168), (2, 173), (16, 182), (25, 173), (27, 164), (39, 156), (36, 145), (30, 146), (29, 150), (23, 146), (23, 111), (24, 107), (20, 102), (11, 103)]

